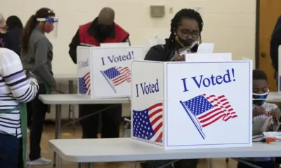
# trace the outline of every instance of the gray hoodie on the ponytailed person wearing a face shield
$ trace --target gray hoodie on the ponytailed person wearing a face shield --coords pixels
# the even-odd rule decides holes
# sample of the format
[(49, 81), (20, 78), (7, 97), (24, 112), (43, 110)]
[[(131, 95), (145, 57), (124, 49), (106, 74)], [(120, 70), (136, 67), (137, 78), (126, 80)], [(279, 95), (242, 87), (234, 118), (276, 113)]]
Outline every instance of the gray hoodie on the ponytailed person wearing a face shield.
[(39, 83), (55, 87), (52, 72), (53, 45), (46, 38), (44, 31), (36, 27), (28, 42), (28, 52), (21, 51), (23, 69), (32, 71)]

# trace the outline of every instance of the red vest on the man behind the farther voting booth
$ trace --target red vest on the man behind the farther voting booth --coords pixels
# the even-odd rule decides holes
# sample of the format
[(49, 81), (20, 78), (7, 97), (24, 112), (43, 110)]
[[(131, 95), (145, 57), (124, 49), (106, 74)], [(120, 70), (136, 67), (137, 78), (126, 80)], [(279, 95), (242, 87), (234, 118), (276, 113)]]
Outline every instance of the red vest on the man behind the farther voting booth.
[[(81, 45), (89, 45), (89, 46), (100, 46), (100, 43), (96, 41), (96, 39), (91, 36), (91, 34), (88, 33), (88, 29), (92, 22), (86, 23), (85, 25), (79, 26), (79, 40)], [(106, 38), (103, 43), (122, 43), (125, 38), (129, 36), (129, 33), (127, 33), (122, 27), (119, 27), (115, 23), (115, 37), (113, 38)]]

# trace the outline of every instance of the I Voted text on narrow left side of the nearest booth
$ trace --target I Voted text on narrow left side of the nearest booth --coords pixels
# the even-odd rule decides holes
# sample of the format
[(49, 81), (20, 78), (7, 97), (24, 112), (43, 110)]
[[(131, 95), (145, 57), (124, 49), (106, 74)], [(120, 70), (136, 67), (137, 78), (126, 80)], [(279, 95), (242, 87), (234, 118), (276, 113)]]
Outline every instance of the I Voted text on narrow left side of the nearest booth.
[[(140, 93), (138, 91), (140, 91)], [(136, 84), (136, 97), (139, 97), (139, 94), (146, 95), (154, 92), (159, 92), (158, 79), (156, 79), (156, 83)]]

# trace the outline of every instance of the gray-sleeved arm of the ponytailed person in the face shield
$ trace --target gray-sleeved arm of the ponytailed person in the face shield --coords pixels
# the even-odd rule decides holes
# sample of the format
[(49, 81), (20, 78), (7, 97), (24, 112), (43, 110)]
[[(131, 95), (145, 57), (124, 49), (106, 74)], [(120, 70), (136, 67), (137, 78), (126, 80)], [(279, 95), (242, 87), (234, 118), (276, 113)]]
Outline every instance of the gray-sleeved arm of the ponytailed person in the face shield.
[(35, 44), (35, 68), (34, 71), (37, 72), (37, 75), (51, 87), (55, 87), (55, 78), (51, 73), (51, 69), (48, 66), (48, 45), (50, 42), (47, 38), (41, 38)]

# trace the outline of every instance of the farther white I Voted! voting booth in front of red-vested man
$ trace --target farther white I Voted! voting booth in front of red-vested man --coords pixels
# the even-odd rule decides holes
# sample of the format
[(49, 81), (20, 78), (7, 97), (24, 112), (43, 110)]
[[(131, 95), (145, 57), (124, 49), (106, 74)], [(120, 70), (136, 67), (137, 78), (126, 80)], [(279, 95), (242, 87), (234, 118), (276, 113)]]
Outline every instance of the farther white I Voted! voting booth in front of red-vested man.
[(131, 63), (143, 60), (142, 46), (78, 47), (78, 94), (95, 97), (131, 95)]

